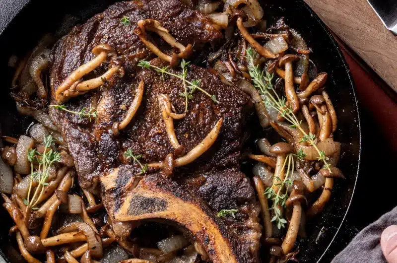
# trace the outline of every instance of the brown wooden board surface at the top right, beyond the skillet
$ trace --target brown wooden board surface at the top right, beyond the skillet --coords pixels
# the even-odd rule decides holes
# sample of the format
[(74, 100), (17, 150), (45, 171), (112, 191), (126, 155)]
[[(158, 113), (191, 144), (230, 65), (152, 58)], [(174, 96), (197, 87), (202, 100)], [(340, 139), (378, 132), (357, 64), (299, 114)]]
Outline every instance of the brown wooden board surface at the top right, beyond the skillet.
[(366, 0), (305, 0), (397, 92), (397, 36)]

